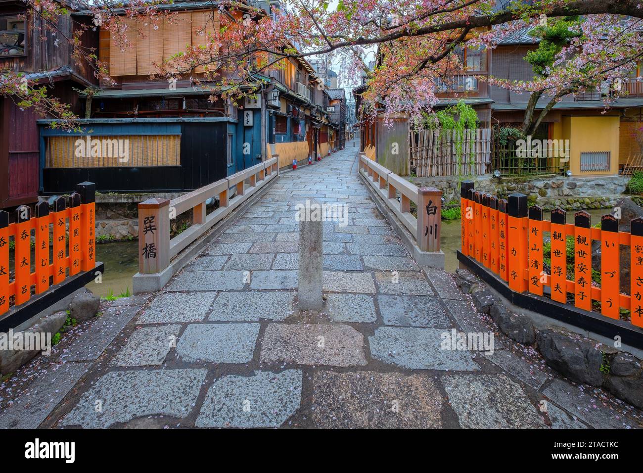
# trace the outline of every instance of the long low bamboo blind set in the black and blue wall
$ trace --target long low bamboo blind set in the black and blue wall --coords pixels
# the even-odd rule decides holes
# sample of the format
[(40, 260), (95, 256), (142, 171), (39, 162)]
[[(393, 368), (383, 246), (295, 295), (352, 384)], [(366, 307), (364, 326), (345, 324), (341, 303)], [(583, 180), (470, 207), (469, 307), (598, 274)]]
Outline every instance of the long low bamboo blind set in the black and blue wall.
[[(82, 153), (76, 156), (77, 140), (85, 140), (85, 136), (48, 136), (46, 138), (45, 167), (75, 168), (75, 167), (156, 167), (181, 165), (181, 135), (119, 135), (92, 136), (91, 140), (125, 140), (122, 150), (127, 148), (127, 162), (120, 162), (117, 153), (104, 153), (91, 156), (92, 153)], [(91, 151), (91, 149), (90, 149)], [(96, 154), (96, 153), (95, 153)], [(116, 154), (116, 156), (102, 156)], [(123, 153), (125, 154), (125, 153)]]

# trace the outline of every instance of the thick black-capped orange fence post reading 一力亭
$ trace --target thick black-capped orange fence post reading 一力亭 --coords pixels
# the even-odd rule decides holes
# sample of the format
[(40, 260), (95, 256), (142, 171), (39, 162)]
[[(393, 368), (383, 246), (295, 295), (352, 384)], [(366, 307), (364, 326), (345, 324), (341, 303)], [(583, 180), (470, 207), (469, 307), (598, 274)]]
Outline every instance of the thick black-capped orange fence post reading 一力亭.
[(515, 192), (509, 196), (509, 288), (516, 292), (527, 290), (527, 196)]

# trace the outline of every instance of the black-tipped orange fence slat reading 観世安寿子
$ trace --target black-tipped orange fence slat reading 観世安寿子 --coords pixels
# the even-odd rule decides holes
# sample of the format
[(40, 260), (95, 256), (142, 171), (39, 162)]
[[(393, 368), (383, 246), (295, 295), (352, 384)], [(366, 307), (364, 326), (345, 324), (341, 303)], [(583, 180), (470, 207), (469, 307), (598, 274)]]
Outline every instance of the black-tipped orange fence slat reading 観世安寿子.
[(574, 214), (574, 306), (592, 310), (592, 217)]

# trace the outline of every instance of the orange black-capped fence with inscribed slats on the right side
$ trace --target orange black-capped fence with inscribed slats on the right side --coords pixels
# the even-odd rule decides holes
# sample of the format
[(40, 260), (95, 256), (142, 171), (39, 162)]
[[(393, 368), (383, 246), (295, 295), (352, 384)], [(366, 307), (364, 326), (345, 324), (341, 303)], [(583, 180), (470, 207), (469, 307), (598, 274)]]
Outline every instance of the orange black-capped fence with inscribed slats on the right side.
[[(600, 302), (605, 317), (619, 319), (629, 310), (631, 324), (643, 327), (643, 218), (633, 219), (629, 232), (619, 232), (619, 220), (608, 214), (601, 228), (591, 225), (588, 212), (554, 209), (550, 221), (538, 205), (527, 206), (527, 196), (511, 194), (509, 201), (473, 189), (464, 181), (460, 190), (462, 254), (498, 275), (515, 292), (542, 296), (592, 311)], [(543, 234), (550, 234), (551, 264), (543, 266)], [(567, 271), (567, 237), (574, 239), (574, 270)], [(592, 241), (601, 248), (600, 286), (592, 274)], [(629, 246), (629, 261), (620, 261), (620, 246)], [(629, 266), (629, 294), (620, 292), (621, 264)], [(571, 303), (571, 302), (570, 302)]]

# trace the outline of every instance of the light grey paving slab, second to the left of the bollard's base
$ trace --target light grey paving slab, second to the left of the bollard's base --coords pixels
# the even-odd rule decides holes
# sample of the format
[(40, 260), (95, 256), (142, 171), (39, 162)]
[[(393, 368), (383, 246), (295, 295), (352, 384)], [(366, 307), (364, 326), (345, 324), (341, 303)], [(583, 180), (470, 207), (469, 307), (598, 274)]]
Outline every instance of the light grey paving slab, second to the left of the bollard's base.
[(156, 296), (139, 315), (140, 324), (201, 322), (210, 311), (216, 292), (168, 292)]

